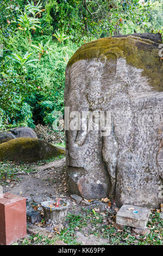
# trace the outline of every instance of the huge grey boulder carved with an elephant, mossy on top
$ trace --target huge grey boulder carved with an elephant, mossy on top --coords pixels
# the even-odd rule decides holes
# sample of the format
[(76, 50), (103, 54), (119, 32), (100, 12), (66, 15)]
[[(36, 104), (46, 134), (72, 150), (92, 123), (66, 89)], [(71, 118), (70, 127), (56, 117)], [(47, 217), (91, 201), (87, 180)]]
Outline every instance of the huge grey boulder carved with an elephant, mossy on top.
[(118, 205), (158, 207), (162, 201), (161, 37), (145, 38), (151, 40), (142, 35), (92, 41), (67, 64), (65, 106), (70, 113), (111, 115), (107, 136), (88, 129), (88, 117), (85, 129), (66, 131), (70, 193), (87, 199), (109, 196)]

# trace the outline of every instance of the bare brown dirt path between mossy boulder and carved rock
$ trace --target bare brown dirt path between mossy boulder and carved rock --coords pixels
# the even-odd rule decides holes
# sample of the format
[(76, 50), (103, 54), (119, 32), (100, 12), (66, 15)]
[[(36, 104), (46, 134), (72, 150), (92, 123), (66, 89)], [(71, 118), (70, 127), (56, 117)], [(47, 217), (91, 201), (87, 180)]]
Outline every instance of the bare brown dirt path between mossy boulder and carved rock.
[(66, 196), (66, 169), (65, 158), (43, 166), (36, 167), (38, 173), (20, 175), (18, 184), (8, 191), (13, 194), (33, 199), (36, 203), (55, 197), (56, 190), (60, 196)]

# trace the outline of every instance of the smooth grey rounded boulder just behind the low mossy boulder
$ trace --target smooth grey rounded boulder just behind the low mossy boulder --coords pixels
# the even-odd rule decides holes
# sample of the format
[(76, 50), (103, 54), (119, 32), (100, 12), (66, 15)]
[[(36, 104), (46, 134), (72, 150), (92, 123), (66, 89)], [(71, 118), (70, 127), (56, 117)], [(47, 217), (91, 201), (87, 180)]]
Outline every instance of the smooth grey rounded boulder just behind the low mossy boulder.
[(11, 129), (10, 132), (16, 137), (29, 137), (29, 138), (37, 138), (36, 133), (30, 127), (18, 127)]

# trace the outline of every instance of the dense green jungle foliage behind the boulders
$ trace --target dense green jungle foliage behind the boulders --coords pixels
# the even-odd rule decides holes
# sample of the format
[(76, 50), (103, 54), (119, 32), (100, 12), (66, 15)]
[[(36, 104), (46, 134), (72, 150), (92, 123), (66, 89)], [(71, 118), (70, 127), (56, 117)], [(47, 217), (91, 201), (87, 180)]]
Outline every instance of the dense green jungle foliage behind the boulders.
[(77, 48), (118, 33), (162, 33), (162, 9), (162, 0), (0, 0), (1, 129), (52, 124)]

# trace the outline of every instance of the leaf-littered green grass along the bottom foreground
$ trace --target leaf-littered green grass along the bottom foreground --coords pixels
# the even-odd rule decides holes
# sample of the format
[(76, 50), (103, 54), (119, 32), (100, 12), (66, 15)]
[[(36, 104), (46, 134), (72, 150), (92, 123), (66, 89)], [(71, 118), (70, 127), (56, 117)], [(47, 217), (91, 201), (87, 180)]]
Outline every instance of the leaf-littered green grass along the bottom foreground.
[(113, 224), (104, 224), (106, 220), (107, 216), (100, 214), (95, 216), (90, 210), (84, 210), (83, 214), (78, 215), (69, 213), (66, 220), (68, 227), (60, 234), (54, 235), (52, 239), (38, 234), (32, 235), (28, 239), (24, 239), (21, 244), (55, 245), (57, 240), (61, 240), (68, 245), (80, 245), (76, 241), (76, 231), (80, 230), (86, 235), (93, 234), (108, 240), (107, 245), (162, 245), (163, 220), (155, 211), (152, 212), (147, 224), (151, 233), (146, 236), (132, 235), (130, 227), (124, 227), (123, 231), (117, 231)]

